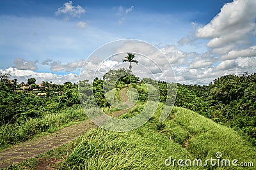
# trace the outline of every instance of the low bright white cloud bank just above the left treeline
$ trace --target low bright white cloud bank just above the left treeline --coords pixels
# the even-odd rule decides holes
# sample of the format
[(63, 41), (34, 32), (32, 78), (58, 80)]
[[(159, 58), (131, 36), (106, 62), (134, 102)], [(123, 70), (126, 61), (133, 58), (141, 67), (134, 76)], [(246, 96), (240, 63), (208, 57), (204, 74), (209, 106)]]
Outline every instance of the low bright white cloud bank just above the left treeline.
[(63, 84), (67, 81), (71, 81), (72, 83), (76, 83), (79, 81), (79, 75), (77, 74), (66, 74), (64, 76), (52, 73), (36, 73), (31, 70), (21, 70), (17, 68), (8, 68), (5, 70), (0, 69), (0, 73), (9, 73), (11, 78), (17, 78), (18, 82), (21, 83), (27, 82), (28, 78), (35, 78), (36, 83), (42, 83), (42, 81), (52, 81), (52, 83)]

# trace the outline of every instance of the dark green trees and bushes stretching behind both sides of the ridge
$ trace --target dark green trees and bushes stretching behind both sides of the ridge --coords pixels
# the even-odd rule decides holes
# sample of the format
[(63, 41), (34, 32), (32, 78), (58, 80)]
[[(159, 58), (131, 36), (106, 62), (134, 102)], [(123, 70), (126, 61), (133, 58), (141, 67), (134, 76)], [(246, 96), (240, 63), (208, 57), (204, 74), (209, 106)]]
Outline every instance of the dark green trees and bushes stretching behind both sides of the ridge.
[[(113, 79), (118, 81), (113, 84), (111, 81)], [(63, 85), (56, 85), (46, 81), (42, 83), (42, 88), (38, 91), (33, 90), (38, 88), (33, 78), (29, 78), (27, 82), (29, 89), (22, 90), (17, 80), (10, 81), (9, 74), (1, 74), (1, 148), (33, 138), (36, 134), (49, 131), (51, 127), (56, 128), (72, 121), (84, 120), (85, 115), (81, 113), (81, 106), (77, 105), (80, 103), (77, 92), (78, 86), (80, 87), (79, 90), (83, 92), (80, 100), (86, 106), (95, 106), (95, 103), (92, 103), (92, 98), (95, 98), (100, 108), (111, 108), (105, 97), (106, 92), (115, 87), (115, 93), (118, 94), (120, 89), (129, 87), (130, 83), (138, 91), (140, 103), (147, 101), (148, 97), (151, 99), (148, 96), (145, 83), (150, 84), (152, 88), (158, 86), (156, 95), (159, 93), (160, 102), (165, 103), (168, 86), (166, 82), (149, 78), (140, 80), (129, 69), (111, 70), (104, 75), (103, 79), (95, 78), (92, 83), (84, 80), (75, 84), (66, 82)], [(38, 93), (45, 93), (46, 96), (38, 96)], [(155, 94), (151, 95), (154, 96)], [(188, 108), (204, 117), (211, 118), (218, 124), (232, 127), (241, 136), (256, 145), (255, 99), (256, 74), (228, 75), (217, 78), (209, 85), (181, 85), (177, 83), (175, 106)], [(68, 112), (66, 110), (80, 110), (80, 112), (77, 112), (79, 113), (78, 116), (67, 114), (66, 116), (69, 118), (66, 116), (63, 118), (67, 121), (60, 124), (52, 123), (56, 122), (53, 119), (51, 119), (52, 122), (47, 119), (49, 115), (54, 117), (65, 115), (64, 113)], [(35, 124), (33, 121), (41, 123)], [(24, 130), (20, 130), (22, 128)], [(31, 132), (32, 130), (28, 131), (28, 129), (32, 129), (33, 132)], [(8, 134), (11, 131), (12, 133)], [(21, 137), (19, 133), (22, 133), (24, 137)]]

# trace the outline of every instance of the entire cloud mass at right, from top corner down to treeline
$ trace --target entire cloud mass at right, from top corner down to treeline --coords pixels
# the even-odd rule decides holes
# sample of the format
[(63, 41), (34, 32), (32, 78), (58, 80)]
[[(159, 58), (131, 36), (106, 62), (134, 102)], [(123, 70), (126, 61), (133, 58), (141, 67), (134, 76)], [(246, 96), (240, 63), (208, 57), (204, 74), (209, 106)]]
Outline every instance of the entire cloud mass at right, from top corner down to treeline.
[(194, 39), (209, 39), (209, 51), (196, 53), (194, 57), (182, 57), (182, 62), (188, 64), (174, 67), (178, 80), (181, 83), (207, 84), (226, 74), (255, 72), (255, 6), (254, 0), (234, 0), (227, 3), (211, 22), (203, 27), (194, 27), (195, 38), (190, 32), (186, 38), (180, 39), (179, 45), (186, 45)]

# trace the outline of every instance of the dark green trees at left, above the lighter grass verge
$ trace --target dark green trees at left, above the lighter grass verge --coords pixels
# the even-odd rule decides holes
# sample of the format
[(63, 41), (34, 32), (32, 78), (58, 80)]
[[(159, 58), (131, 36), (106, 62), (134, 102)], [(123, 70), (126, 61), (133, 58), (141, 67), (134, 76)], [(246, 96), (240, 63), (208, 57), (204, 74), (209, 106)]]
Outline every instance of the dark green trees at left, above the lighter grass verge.
[[(22, 122), (27, 118), (38, 118), (44, 113), (56, 113), (66, 106), (79, 104), (77, 85), (72, 85), (71, 82), (56, 85), (46, 81), (38, 90), (35, 78), (29, 78), (28, 89), (22, 90), (17, 84), (17, 80), (10, 81), (10, 74), (1, 74), (0, 76), (0, 125)], [(34, 91), (35, 89), (36, 91)], [(38, 93), (46, 95), (40, 97), (37, 95)]]

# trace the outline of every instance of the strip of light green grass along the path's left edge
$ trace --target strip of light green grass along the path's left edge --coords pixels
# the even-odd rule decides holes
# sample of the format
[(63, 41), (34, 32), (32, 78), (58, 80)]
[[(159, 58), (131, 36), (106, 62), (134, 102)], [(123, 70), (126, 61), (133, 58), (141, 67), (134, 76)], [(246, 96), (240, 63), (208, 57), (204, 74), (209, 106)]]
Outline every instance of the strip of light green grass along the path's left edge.
[(86, 114), (78, 105), (59, 113), (44, 114), (40, 118), (28, 118), (17, 121), (15, 124), (2, 125), (0, 127), (0, 150), (42, 134), (57, 131), (65, 125), (81, 120), (86, 120)]

